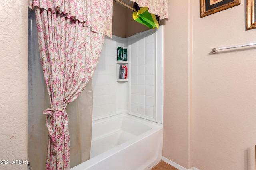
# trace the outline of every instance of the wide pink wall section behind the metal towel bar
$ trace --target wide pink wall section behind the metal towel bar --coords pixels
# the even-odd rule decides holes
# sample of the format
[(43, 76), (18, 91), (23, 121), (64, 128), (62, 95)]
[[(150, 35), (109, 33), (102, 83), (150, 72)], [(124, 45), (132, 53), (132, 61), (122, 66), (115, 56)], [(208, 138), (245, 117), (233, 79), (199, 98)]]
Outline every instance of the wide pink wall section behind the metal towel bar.
[(256, 42), (246, 30), (246, 0), (199, 18), (193, 1), (192, 162), (201, 170), (255, 170)]

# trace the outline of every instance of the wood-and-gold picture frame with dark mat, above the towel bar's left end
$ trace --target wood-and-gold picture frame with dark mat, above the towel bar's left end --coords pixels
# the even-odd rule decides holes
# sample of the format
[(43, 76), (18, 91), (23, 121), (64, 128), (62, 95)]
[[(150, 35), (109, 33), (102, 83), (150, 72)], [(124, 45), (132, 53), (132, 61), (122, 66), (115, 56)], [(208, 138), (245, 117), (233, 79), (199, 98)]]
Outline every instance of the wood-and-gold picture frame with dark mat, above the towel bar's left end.
[(201, 0), (201, 18), (240, 5), (241, 0)]

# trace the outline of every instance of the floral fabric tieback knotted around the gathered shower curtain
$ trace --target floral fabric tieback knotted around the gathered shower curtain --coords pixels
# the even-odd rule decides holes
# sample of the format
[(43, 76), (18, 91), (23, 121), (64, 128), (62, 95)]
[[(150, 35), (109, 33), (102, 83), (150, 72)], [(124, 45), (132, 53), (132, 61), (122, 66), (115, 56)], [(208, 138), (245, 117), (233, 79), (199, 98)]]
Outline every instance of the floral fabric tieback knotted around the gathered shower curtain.
[[(54, 130), (52, 129), (52, 126), (50, 125), (50, 123), (48, 122), (48, 118), (52, 117), (52, 112), (53, 111), (61, 111), (64, 112), (63, 115), (63, 124), (64, 124), (64, 128), (62, 129), (62, 134), (60, 136), (59, 139), (56, 138), (55, 134), (54, 134)], [(47, 115), (46, 117), (46, 126), (47, 129), (49, 131), (49, 135), (50, 138), (52, 139), (52, 143), (54, 143), (54, 149), (52, 150), (53, 154), (56, 155), (57, 154), (57, 150), (60, 147), (62, 140), (64, 139), (65, 133), (68, 129), (68, 114), (66, 112), (66, 108), (65, 107), (60, 107), (60, 108), (48, 108), (43, 112), (44, 115)], [(66, 117), (66, 119), (65, 119)]]

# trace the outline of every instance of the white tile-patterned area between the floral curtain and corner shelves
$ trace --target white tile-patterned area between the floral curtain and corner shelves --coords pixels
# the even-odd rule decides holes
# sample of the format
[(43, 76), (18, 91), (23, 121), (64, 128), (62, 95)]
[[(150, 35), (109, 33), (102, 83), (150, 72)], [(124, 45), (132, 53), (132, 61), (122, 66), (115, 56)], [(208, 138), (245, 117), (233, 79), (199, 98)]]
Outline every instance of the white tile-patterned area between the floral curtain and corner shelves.
[(97, 67), (92, 76), (93, 118), (116, 112), (116, 43), (105, 37)]

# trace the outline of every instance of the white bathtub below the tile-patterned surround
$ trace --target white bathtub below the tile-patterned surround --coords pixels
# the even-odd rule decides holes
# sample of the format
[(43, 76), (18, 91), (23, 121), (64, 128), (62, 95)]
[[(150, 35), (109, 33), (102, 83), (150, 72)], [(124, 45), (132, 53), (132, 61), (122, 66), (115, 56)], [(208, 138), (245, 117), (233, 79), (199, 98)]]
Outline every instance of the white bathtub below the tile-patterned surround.
[(150, 170), (162, 159), (163, 126), (128, 114), (92, 123), (91, 158), (71, 170)]

